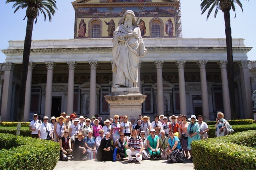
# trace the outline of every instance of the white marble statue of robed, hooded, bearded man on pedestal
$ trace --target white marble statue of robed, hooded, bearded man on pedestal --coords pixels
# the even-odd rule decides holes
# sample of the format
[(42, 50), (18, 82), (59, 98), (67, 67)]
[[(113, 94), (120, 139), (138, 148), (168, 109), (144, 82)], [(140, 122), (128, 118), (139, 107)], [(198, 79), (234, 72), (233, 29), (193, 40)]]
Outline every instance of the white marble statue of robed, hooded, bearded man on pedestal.
[(127, 10), (124, 13), (121, 24), (114, 31), (113, 41), (113, 65), (115, 72), (115, 85), (118, 87), (137, 87), (139, 57), (145, 57), (145, 49), (139, 25), (136, 24), (134, 12)]

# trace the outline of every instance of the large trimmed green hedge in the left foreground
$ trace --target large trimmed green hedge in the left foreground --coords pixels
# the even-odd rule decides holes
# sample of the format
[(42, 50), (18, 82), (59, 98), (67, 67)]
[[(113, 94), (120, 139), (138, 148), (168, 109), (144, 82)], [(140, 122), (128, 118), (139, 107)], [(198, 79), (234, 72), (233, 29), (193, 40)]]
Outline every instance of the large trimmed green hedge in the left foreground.
[(59, 159), (59, 143), (31, 137), (0, 133), (0, 149), (1, 170), (52, 170)]

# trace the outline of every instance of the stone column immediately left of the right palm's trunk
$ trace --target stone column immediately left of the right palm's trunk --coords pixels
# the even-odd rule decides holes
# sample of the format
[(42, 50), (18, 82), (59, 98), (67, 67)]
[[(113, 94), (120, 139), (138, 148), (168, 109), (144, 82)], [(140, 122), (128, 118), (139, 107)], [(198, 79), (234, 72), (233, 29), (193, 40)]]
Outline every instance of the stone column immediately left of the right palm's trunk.
[(227, 60), (220, 60), (217, 62), (217, 64), (221, 68), (222, 95), (223, 95), (225, 119), (231, 120), (230, 98), (229, 98), (229, 91), (228, 91), (228, 75), (226, 70), (227, 63), (228, 63)]

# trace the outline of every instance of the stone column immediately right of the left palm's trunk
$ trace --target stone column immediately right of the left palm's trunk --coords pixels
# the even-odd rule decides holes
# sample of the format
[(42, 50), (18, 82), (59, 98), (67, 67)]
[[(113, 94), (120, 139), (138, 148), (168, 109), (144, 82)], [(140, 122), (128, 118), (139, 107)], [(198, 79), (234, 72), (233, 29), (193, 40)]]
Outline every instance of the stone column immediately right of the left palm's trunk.
[(35, 63), (29, 62), (28, 64), (28, 77), (26, 81), (26, 95), (24, 105), (24, 122), (29, 122), (30, 104), (31, 104), (31, 83), (32, 83), (32, 70)]

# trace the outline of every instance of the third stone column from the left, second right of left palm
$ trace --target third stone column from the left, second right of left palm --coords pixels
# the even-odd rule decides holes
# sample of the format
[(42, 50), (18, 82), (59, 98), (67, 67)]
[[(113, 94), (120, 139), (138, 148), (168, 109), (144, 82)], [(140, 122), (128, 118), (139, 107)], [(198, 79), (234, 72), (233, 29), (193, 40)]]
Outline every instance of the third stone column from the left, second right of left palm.
[(53, 61), (45, 62), (47, 67), (47, 80), (46, 80), (46, 92), (45, 92), (45, 116), (48, 118), (52, 115), (52, 76), (53, 69), (56, 65)]

